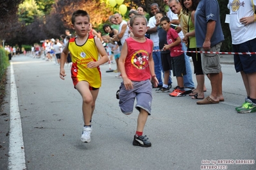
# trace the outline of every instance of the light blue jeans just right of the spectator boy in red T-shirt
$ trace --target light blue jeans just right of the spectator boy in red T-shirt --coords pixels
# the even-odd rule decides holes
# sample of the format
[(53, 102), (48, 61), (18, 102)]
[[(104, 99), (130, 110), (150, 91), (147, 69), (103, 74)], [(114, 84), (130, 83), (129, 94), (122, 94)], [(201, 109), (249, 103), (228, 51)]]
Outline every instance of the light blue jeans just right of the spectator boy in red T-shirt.
[[(182, 50), (183, 51), (187, 50), (185, 43), (182, 43)], [(194, 88), (190, 59), (189, 59), (189, 56), (186, 55), (186, 52), (184, 52), (184, 56), (185, 56), (185, 66), (186, 66), (186, 72), (187, 72), (187, 75), (183, 75), (184, 86), (186, 88)]]

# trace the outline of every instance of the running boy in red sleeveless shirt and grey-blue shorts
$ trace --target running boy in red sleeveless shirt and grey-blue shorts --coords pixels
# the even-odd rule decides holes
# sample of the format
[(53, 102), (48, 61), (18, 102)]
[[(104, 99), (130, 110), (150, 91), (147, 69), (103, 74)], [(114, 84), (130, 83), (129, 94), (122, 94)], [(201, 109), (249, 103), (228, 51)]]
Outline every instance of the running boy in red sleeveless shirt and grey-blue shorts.
[(135, 108), (139, 111), (139, 116), (133, 145), (149, 147), (151, 143), (148, 137), (142, 134), (148, 115), (151, 114), (150, 79), (153, 79), (154, 86), (158, 85), (152, 56), (153, 42), (144, 36), (147, 20), (143, 15), (134, 15), (130, 19), (130, 26), (134, 36), (126, 38), (119, 58), (119, 69), (123, 77), (119, 88), (119, 106), (124, 114), (131, 114), (135, 98), (137, 99)]

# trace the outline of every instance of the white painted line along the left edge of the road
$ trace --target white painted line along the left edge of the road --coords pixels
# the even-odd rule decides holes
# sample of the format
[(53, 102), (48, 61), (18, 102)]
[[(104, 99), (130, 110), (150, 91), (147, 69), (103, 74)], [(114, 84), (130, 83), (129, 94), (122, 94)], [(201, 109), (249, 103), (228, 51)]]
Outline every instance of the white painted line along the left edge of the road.
[(8, 169), (26, 169), (21, 114), (12, 62), (10, 63), (10, 134)]

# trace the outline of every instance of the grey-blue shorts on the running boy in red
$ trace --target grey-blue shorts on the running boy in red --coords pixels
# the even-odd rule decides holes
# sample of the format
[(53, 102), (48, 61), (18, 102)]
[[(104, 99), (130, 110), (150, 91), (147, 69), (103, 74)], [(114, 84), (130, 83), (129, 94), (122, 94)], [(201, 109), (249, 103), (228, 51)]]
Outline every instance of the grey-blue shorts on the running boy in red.
[(135, 98), (137, 104), (135, 108), (141, 111), (141, 108), (151, 114), (152, 104), (152, 85), (149, 80), (146, 81), (132, 81), (133, 89), (126, 90), (124, 83), (121, 82), (119, 92), (119, 107), (124, 114), (131, 114), (133, 112), (133, 105)]

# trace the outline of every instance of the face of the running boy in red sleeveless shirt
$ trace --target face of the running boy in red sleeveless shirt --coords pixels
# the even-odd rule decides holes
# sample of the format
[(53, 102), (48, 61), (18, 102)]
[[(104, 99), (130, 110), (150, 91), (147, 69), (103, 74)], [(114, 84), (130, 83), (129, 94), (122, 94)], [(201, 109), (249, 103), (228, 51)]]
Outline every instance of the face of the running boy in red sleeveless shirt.
[(133, 26), (130, 27), (134, 36), (142, 37), (145, 35), (147, 29), (147, 22), (143, 17), (136, 17), (133, 20)]

